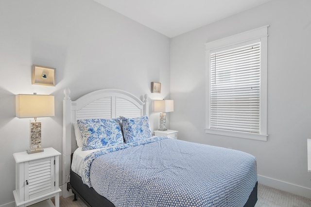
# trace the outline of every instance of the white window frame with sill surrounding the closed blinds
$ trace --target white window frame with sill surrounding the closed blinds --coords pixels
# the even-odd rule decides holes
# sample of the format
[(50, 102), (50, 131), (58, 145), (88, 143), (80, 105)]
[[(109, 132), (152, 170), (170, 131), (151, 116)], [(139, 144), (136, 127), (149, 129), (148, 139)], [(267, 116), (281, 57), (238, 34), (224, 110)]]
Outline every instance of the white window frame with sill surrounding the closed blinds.
[[(206, 128), (207, 134), (239, 137), (245, 139), (267, 141), (267, 59), (268, 59), (268, 27), (263, 26), (247, 32), (228, 36), (219, 40), (207, 42), (206, 46), (206, 68), (207, 68), (207, 91), (206, 91)], [(210, 128), (210, 54), (211, 51), (222, 48), (234, 48), (240, 44), (258, 40), (260, 42), (260, 108), (259, 108), (259, 133), (231, 131)]]

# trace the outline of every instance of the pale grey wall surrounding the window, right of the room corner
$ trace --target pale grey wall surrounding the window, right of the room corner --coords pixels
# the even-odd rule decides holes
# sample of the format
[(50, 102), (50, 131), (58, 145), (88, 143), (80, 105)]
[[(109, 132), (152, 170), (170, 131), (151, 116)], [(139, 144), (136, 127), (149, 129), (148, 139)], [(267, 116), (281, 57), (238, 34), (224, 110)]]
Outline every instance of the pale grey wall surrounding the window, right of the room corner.
[[(311, 198), (311, 1), (272, 0), (171, 39), (171, 128), (178, 139), (248, 152), (259, 182)], [(205, 43), (268, 28), (268, 141), (206, 134)]]

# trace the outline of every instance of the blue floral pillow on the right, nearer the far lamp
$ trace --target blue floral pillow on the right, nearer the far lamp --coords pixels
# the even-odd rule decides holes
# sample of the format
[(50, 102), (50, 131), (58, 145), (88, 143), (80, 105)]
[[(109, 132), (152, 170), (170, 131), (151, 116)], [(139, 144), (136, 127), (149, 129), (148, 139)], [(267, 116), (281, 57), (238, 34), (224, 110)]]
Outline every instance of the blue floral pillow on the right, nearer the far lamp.
[(126, 118), (122, 120), (123, 136), (126, 143), (132, 143), (152, 137), (148, 116)]

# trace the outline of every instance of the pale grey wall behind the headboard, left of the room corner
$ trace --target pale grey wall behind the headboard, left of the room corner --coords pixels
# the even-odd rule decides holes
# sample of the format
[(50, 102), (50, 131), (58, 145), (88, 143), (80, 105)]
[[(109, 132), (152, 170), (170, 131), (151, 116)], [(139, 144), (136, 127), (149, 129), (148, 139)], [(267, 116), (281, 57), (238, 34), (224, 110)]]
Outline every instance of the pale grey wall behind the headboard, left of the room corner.
[[(56, 86), (32, 85), (32, 64), (55, 67)], [(65, 88), (72, 100), (104, 88), (148, 94), (153, 110), (151, 99), (169, 95), (169, 67), (168, 37), (93, 0), (1, 0), (0, 206), (14, 201), (13, 153), (29, 147), (30, 119), (15, 117), (16, 94), (55, 96), (55, 117), (40, 118), (42, 146), (61, 152)], [(161, 94), (151, 94), (152, 81)], [(152, 129), (158, 114), (150, 114)]]

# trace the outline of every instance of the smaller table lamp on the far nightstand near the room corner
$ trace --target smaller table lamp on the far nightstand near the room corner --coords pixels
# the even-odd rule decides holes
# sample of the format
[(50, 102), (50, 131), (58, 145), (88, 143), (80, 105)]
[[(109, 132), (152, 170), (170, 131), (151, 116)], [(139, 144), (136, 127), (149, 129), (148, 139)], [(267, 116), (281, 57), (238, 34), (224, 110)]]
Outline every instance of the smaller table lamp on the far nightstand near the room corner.
[(166, 128), (166, 112), (174, 111), (174, 101), (173, 100), (155, 100), (154, 101), (154, 111), (160, 113), (160, 128), (158, 130), (165, 131)]

